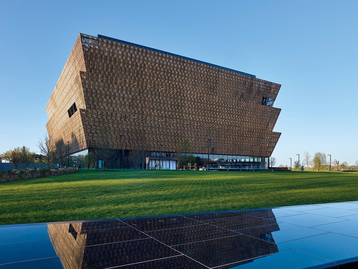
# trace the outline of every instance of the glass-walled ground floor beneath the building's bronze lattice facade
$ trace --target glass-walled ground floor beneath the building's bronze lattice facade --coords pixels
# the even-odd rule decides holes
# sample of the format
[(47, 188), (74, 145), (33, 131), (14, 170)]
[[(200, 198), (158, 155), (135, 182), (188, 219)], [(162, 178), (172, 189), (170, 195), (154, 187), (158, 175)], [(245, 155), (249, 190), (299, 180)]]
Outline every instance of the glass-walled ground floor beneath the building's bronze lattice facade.
[[(89, 168), (84, 159), (88, 152), (96, 151), (92, 149), (82, 150), (69, 156), (69, 166), (76, 166), (78, 168)], [(125, 150), (122, 156), (122, 150), (113, 150), (107, 158), (105, 166), (108, 169), (161, 169), (175, 170), (183, 167), (178, 167), (178, 158), (175, 152), (160, 152), (159, 151), (130, 151)], [(192, 154), (195, 158), (195, 163), (191, 164), (192, 169), (196, 166), (197, 169), (206, 169), (208, 161), (211, 169), (267, 169), (269, 166), (269, 157), (263, 156), (246, 156), (246, 155), (224, 155), (224, 154)], [(160, 156), (160, 157), (159, 157)], [(160, 160), (160, 161), (159, 161)], [(95, 168), (102, 168), (103, 159), (96, 155), (96, 162), (92, 165)]]

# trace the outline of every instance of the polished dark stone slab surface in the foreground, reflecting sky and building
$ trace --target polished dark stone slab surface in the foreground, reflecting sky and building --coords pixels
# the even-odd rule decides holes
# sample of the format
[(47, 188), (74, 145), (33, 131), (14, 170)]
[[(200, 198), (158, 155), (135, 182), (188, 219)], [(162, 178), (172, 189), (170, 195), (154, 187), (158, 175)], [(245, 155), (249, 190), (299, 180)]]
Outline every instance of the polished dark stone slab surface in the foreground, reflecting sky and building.
[(0, 269), (338, 265), (358, 268), (357, 201), (0, 226)]

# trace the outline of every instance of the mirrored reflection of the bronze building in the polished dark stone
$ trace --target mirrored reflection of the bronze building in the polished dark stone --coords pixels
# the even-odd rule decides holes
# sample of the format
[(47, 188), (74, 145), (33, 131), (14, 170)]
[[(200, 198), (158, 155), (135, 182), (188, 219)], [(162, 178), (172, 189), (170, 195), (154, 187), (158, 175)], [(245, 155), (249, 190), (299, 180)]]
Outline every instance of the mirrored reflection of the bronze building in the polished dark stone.
[[(217, 237), (215, 237), (213, 236), (213, 226), (194, 225), (194, 223), (194, 226), (166, 229), (164, 233), (149, 233), (149, 235), (153, 236), (156, 240), (163, 242), (165, 245), (179, 246), (177, 244), (183, 242), (183, 233), (178, 232), (178, 230), (183, 229), (182, 231), (188, 233), (187, 237), (185, 237), (184, 233), (185, 242), (202, 242), (202, 244), (205, 245), (203, 247), (203, 245), (200, 244), (198, 249), (195, 249), (196, 244), (189, 244), (193, 253), (202, 253), (202, 251), (205, 250), (203, 255), (206, 255), (208, 260), (213, 259), (216, 262), (221, 263), (221, 265), (228, 264), (227, 259), (238, 261), (237, 259), (243, 257), (245, 257), (245, 259), (242, 260), (245, 261), (242, 263), (249, 263), (252, 262), (250, 259), (279, 252), (277, 245), (271, 244), (275, 243), (272, 232), (279, 230), (279, 225), (274, 221), (275, 216), (272, 213), (272, 210), (268, 209), (259, 213), (262, 213), (262, 217), (273, 218), (273, 224), (252, 228), (250, 236), (240, 235), (239, 240), (237, 237), (238, 234), (221, 237), (220, 233), (218, 233)], [(178, 217), (173, 216), (168, 218), (171, 218), (171, 220), (175, 222), (175, 218)], [(142, 258), (139, 258), (142, 260), (137, 261), (160, 258), (155, 256), (160, 255), (158, 253), (165, 253), (166, 250), (169, 250), (169, 247), (166, 247), (139, 231), (167, 228), (165, 224), (163, 225), (165, 221), (163, 222), (160, 219), (160, 217), (156, 220), (150, 219), (149, 223), (144, 223), (143, 225), (135, 225), (135, 222), (128, 222), (136, 227), (136, 229), (124, 226), (124, 223), (120, 221), (99, 221), (48, 224), (48, 230), (52, 236), (55, 250), (58, 250), (67, 269), (92, 268), (94, 264), (101, 265), (101, 268), (108, 268), (130, 264), (133, 262), (133, 257), (141, 256), (142, 253), (151, 253), (151, 255), (143, 255)], [(258, 224), (253, 220), (255, 218), (236, 217), (233, 219), (236, 220), (238, 226), (242, 227), (254, 227)], [(253, 240), (253, 237), (256, 239)], [(218, 240), (203, 240), (208, 238), (216, 238)], [(262, 239), (271, 243), (257, 239)], [(215, 247), (212, 247), (213, 244), (222, 245), (215, 245)], [(222, 253), (218, 253), (218, 248), (226, 249), (228, 257), (223, 256)], [(233, 249), (233, 251), (230, 251), (230, 249)], [(242, 253), (242, 257), (230, 257), (230, 255), (234, 255), (237, 252)], [(176, 254), (172, 254), (170, 256), (175, 255)], [(233, 265), (229, 265), (227, 268), (232, 266)]]

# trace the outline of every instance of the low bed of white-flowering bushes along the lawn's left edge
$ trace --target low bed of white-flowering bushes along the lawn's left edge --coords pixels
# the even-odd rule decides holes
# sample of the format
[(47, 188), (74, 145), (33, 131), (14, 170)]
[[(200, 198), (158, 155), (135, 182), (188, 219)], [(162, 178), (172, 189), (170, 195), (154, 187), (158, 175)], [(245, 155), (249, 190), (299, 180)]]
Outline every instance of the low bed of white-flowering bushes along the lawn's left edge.
[(75, 167), (63, 168), (47, 168), (47, 167), (33, 167), (33, 168), (15, 168), (11, 171), (0, 172), (0, 183), (11, 182), (16, 180), (25, 180), (30, 178), (43, 178), (45, 176), (57, 176), (64, 174), (71, 174), (77, 172)]

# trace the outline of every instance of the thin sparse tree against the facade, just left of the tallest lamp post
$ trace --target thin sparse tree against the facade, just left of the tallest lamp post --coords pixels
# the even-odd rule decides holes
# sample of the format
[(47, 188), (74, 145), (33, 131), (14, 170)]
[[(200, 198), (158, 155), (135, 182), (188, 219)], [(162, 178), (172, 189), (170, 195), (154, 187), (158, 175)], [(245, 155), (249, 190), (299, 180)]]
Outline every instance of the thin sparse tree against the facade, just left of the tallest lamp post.
[(115, 151), (112, 149), (114, 143), (112, 140), (112, 133), (109, 129), (103, 130), (98, 135), (98, 140), (95, 142), (94, 148), (98, 161), (102, 161), (102, 169), (110, 168), (110, 162), (113, 159)]

